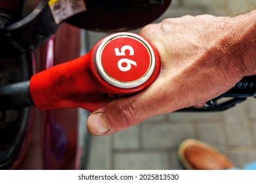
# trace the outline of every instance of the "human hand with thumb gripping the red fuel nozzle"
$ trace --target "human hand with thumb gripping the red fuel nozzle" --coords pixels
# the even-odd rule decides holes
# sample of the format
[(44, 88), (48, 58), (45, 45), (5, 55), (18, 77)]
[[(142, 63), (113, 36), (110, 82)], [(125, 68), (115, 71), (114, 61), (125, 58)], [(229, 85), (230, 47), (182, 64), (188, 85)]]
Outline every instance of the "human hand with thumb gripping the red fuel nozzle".
[(89, 131), (108, 135), (158, 114), (205, 103), (243, 76), (255, 75), (255, 51), (248, 51), (255, 50), (255, 42), (248, 41), (252, 28), (245, 19), (183, 16), (144, 27), (140, 35), (160, 54), (158, 78), (143, 92), (98, 108), (87, 121)]

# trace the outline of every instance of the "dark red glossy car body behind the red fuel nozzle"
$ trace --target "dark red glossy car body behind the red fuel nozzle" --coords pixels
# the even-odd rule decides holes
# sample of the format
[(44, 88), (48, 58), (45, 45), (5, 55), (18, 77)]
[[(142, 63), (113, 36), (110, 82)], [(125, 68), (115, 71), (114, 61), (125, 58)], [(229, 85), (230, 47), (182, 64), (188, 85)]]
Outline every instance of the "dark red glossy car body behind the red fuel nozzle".
[[(33, 63), (37, 71), (43, 71), (79, 57), (81, 31), (77, 27), (62, 24), (44, 46), (35, 50)], [(35, 67), (35, 65), (33, 65)], [(18, 169), (77, 169), (78, 109), (36, 110), (33, 108), (32, 127), (28, 129), (28, 148), (21, 150), (25, 156)], [(85, 129), (86, 130), (86, 129)], [(25, 151), (27, 153), (25, 153)]]

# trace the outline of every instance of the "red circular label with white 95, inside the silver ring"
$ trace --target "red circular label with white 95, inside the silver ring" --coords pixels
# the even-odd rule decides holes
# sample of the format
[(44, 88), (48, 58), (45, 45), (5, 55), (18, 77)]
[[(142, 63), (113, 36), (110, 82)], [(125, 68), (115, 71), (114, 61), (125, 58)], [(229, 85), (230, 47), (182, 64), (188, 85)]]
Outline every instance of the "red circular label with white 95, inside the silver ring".
[(133, 82), (144, 76), (150, 67), (150, 52), (132, 37), (117, 37), (107, 42), (101, 55), (107, 75), (120, 82)]

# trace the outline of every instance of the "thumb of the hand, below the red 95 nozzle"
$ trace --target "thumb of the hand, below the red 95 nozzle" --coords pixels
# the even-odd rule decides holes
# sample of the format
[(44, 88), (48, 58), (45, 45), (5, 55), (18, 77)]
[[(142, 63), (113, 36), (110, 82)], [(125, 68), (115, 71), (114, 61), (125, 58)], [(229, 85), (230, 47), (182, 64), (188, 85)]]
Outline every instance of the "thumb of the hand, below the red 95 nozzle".
[(140, 93), (116, 99), (95, 110), (87, 120), (87, 128), (93, 135), (116, 133), (153, 116), (146, 105), (148, 101), (141, 99)]

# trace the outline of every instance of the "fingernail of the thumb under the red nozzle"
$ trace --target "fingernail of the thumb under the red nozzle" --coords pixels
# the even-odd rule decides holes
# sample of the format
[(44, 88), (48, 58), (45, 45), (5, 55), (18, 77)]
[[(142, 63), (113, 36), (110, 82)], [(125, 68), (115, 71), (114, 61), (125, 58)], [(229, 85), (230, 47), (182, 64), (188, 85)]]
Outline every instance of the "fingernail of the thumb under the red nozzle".
[(104, 135), (110, 131), (108, 121), (103, 112), (95, 112), (89, 116), (88, 128), (94, 135)]

